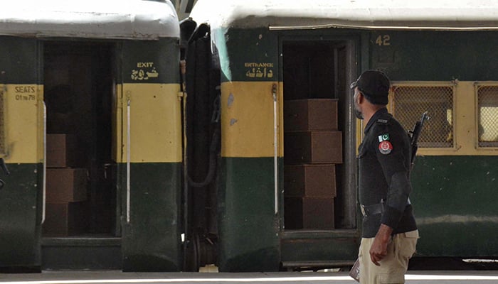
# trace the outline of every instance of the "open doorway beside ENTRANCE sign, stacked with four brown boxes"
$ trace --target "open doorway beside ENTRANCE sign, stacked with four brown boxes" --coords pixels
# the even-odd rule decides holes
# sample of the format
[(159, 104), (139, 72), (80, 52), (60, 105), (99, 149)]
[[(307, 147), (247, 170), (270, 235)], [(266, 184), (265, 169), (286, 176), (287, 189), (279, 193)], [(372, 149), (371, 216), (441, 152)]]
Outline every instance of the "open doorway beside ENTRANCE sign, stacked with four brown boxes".
[(349, 266), (356, 258), (356, 123), (352, 36), (282, 36), (282, 266)]

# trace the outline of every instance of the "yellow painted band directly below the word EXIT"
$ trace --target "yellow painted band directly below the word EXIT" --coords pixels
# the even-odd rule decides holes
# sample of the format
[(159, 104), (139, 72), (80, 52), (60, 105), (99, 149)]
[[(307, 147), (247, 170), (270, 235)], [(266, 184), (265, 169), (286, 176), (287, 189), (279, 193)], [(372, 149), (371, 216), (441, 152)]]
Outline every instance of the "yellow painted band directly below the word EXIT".
[(181, 101), (179, 84), (123, 84), (117, 87), (113, 158), (131, 163), (181, 162)]

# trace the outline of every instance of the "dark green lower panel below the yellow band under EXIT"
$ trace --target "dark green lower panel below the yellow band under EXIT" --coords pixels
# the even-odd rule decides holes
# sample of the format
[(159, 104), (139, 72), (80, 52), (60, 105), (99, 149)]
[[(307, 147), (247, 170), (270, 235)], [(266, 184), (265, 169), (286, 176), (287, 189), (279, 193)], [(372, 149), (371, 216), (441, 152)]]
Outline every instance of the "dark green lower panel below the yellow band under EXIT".
[[(126, 164), (118, 171), (125, 177)], [(181, 270), (181, 163), (134, 163), (131, 173), (130, 222), (125, 209), (121, 218), (123, 271)], [(120, 187), (125, 195), (125, 179)]]

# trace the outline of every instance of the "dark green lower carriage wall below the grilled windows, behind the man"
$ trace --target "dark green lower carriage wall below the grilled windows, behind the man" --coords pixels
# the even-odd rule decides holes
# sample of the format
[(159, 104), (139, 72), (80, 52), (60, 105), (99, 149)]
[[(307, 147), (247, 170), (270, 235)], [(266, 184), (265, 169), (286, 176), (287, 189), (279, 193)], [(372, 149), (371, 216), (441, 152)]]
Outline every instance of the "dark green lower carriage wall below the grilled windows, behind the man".
[(419, 256), (496, 256), (496, 156), (420, 156), (412, 201)]

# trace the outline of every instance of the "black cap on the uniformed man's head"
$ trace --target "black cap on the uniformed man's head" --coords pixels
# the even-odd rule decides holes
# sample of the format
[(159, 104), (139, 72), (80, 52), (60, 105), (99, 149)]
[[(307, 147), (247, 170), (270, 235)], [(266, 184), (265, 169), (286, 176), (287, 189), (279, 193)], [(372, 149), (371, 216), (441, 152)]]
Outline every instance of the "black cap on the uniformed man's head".
[(372, 104), (386, 105), (389, 101), (389, 87), (391, 82), (389, 78), (381, 71), (366, 70), (361, 73), (358, 80), (351, 83), (351, 89), (358, 87), (366, 99)]

